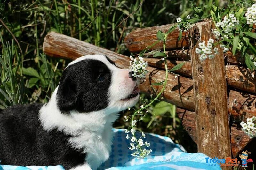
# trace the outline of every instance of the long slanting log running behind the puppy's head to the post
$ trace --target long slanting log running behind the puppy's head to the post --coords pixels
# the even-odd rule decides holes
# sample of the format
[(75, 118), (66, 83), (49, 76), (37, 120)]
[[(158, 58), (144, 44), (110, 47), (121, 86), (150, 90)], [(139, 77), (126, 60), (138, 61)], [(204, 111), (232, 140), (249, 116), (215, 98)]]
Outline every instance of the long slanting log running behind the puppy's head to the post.
[[(77, 40), (75, 38), (50, 32), (44, 38), (43, 51), (46, 55), (52, 57), (62, 57), (67, 59), (76, 59), (84, 55), (103, 54), (116, 63), (119, 68), (129, 68), (130, 58), (117, 54), (108, 49), (96, 47), (92, 44)], [(161, 82), (164, 80), (162, 75), (165, 71), (158, 70), (153, 67), (148, 67), (149, 74), (145, 78), (144, 83), (140, 85), (142, 92), (153, 93), (150, 85), (152, 83)], [(185, 77), (175, 78), (175, 75), (168, 74), (168, 86), (163, 93), (165, 101), (177, 105), (178, 107), (194, 109), (194, 95), (192, 80)], [(159, 92), (162, 86), (155, 86), (156, 92)]]

